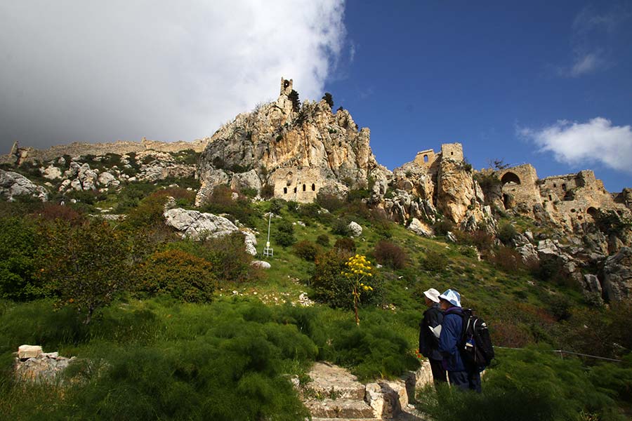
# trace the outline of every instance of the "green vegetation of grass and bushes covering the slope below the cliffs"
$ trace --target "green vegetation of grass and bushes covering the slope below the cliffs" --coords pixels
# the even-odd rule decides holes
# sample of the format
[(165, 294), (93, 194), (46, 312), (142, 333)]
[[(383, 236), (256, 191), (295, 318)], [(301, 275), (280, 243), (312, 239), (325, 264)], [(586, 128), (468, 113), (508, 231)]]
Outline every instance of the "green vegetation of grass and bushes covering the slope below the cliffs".
[[(420, 393), (419, 408), (433, 419), (619, 420), (629, 413), (632, 304), (594, 307), (556, 278), (559, 267), (525, 265), (484, 227), (466, 233), (438, 222), (437, 237), (426, 239), (356, 196), (251, 201), (217, 187), (201, 210), (259, 232), (259, 252), (274, 213), (275, 256), (264, 272), (251, 266), (242, 234), (190, 241), (164, 225), (167, 196), (193, 204), (187, 182), (177, 184), (130, 183), (93, 204), (81, 198), (124, 213), (117, 222), (88, 217), (86, 207), (0, 201), (1, 417), (302, 420), (289, 377), (304, 376), (312, 361), (367, 381), (419, 366), (422, 292), (430, 287), (459, 290), (495, 345), (527, 347), (499, 349), (483, 394)], [(356, 239), (348, 236), (352, 220), (363, 229)], [(513, 217), (499, 226), (506, 243), (544, 229)], [(457, 243), (443, 239), (448, 230)], [(353, 283), (341, 275), (356, 253), (374, 267), (371, 281), (360, 281), (360, 326)], [(298, 305), (302, 292), (317, 304)], [(67, 381), (15, 382), (11, 353), (25, 343), (77, 356)], [(560, 359), (551, 349), (624, 362)]]

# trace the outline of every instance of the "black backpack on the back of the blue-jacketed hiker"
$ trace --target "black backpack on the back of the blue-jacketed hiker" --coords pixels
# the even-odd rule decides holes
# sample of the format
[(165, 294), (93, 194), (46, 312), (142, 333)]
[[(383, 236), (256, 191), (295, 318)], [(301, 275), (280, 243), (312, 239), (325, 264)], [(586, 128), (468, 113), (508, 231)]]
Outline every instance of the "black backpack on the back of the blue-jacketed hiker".
[(494, 359), (494, 345), (487, 324), (472, 309), (463, 309), (463, 335), (459, 344), (463, 362), (475, 367), (489, 366)]

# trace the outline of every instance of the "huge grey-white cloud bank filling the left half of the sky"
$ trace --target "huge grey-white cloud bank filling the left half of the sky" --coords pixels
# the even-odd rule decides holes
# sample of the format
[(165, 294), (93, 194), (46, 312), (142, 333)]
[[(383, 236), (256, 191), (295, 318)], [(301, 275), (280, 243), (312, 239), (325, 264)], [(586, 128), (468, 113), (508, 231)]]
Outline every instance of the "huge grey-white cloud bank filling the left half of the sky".
[(343, 14), (344, 0), (3, 2), (1, 142), (201, 138), (276, 98), (281, 76), (320, 98)]

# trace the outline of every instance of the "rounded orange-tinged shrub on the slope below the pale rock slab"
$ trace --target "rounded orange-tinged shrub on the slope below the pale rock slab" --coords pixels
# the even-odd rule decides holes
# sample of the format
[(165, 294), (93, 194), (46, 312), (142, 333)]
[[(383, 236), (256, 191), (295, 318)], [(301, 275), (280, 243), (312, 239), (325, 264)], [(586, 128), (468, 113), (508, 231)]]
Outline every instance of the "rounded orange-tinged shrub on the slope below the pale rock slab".
[(208, 302), (216, 287), (211, 268), (206, 260), (180, 250), (154, 253), (140, 265), (140, 290), (168, 293), (184, 302)]

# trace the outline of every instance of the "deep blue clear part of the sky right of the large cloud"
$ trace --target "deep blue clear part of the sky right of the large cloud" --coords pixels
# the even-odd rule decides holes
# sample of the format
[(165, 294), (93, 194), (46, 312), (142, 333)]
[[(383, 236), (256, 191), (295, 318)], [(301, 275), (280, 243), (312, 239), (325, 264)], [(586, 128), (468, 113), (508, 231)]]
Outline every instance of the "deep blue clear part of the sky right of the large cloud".
[(632, 124), (631, 5), (349, 1), (346, 54), (325, 88), (371, 128), (374, 154), (390, 169), (419, 150), (461, 142), (475, 168), (529, 162), (540, 178), (591, 168), (620, 191), (632, 186), (629, 128), (617, 138), (627, 145), (618, 170), (587, 158), (594, 150), (584, 142), (603, 136), (580, 136), (574, 145), (586, 154), (570, 163), (540, 152), (525, 129), (567, 120), (590, 135), (596, 117), (610, 128)]

